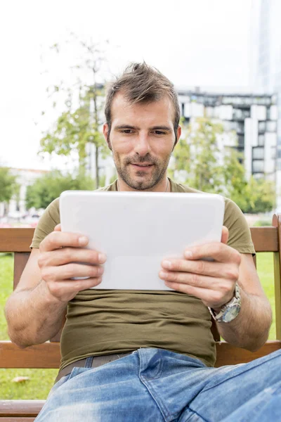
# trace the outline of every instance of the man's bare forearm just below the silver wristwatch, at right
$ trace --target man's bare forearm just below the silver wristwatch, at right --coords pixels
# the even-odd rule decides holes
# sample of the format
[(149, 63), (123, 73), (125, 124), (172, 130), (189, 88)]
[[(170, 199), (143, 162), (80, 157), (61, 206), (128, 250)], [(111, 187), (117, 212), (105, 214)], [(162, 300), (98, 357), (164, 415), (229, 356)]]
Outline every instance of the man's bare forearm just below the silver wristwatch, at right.
[(268, 339), (272, 311), (266, 297), (245, 293), (240, 287), (241, 310), (229, 323), (217, 323), (218, 331), (228, 343), (254, 352)]

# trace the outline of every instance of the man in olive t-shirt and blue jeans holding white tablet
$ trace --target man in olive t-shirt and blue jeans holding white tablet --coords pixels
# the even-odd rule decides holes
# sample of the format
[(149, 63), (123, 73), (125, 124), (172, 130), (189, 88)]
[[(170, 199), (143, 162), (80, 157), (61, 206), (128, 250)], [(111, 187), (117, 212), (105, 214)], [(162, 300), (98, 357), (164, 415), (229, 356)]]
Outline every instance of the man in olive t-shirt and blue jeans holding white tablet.
[[(131, 65), (110, 87), (105, 117), (118, 179), (103, 190), (194, 192), (166, 177), (181, 136), (169, 79), (145, 63)], [(20, 347), (53, 337), (67, 311), (60, 372), (38, 421), (281, 421), (280, 353), (213, 367), (211, 313), (222, 337), (248, 350), (266, 342), (271, 322), (249, 228), (232, 201), (221, 243), (162, 262), (159, 277), (172, 291), (90, 289), (102, 283), (106, 257), (59, 223), (55, 200), (6, 305)]]

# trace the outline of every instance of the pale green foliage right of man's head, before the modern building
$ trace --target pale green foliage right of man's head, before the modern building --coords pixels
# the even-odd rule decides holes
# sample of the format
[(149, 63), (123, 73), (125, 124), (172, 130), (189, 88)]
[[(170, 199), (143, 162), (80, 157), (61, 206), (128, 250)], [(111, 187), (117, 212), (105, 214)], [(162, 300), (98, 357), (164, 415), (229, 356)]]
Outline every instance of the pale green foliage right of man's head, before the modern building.
[(234, 200), (243, 212), (273, 210), (275, 188), (272, 181), (251, 177), (247, 181), (243, 157), (235, 148), (220, 150), (223, 126), (200, 117), (183, 129), (169, 168), (169, 175), (199, 191), (218, 193)]

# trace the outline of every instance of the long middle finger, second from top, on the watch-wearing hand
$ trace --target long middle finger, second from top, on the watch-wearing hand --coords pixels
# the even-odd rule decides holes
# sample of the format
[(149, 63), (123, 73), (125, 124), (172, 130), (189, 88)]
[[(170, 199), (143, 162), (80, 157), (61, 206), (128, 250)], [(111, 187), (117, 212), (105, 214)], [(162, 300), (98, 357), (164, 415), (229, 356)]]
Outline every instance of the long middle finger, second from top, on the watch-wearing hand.
[(237, 281), (239, 276), (237, 264), (225, 264), (215, 261), (170, 259), (162, 261), (162, 267), (166, 271), (183, 271), (185, 273), (200, 274), (217, 279)]

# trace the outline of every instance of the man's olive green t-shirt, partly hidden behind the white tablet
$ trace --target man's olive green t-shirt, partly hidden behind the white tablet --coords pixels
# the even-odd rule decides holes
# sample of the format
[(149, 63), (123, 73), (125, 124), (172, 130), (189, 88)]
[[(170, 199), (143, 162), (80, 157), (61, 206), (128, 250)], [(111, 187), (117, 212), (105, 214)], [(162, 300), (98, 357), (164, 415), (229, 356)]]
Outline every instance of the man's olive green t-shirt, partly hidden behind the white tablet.
[[(117, 191), (117, 181), (101, 190)], [(171, 181), (171, 192), (199, 191)], [(242, 211), (232, 200), (225, 198), (225, 204), (223, 224), (229, 230), (228, 245), (242, 253), (254, 253)], [(59, 200), (55, 199), (39, 220), (31, 248), (39, 248), (59, 222)], [(68, 303), (60, 340), (60, 369), (84, 357), (140, 347), (187, 354), (214, 366), (216, 346), (209, 310), (200, 299), (166, 290), (87, 289)]]

